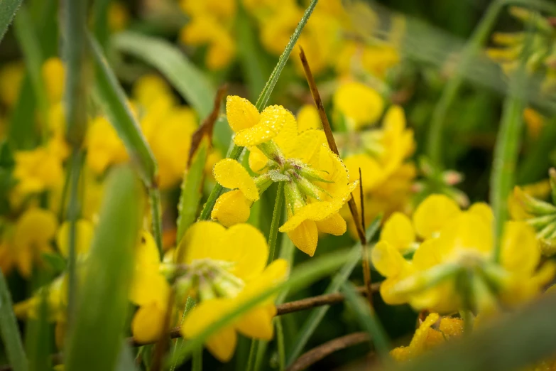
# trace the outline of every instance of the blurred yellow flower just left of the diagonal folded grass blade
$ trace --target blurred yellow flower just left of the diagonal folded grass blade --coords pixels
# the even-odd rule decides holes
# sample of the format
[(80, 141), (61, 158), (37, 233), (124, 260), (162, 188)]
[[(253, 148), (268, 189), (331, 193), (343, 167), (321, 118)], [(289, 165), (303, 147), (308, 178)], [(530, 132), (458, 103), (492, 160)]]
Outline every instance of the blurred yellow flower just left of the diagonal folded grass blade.
[(104, 117), (96, 117), (87, 129), (87, 166), (98, 175), (116, 163), (128, 160), (124, 143)]

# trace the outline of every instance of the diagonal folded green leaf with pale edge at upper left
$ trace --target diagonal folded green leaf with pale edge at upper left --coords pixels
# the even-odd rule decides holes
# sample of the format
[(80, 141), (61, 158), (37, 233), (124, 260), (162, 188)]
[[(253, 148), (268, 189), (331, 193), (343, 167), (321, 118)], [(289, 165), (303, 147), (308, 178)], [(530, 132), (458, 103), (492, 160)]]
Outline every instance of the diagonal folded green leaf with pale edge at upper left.
[(99, 44), (89, 35), (94, 65), (97, 69), (94, 98), (102, 107), (110, 123), (118, 132), (119, 137), (138, 168), (143, 182), (148, 188), (155, 185), (156, 161), (141, 133), (139, 124), (131, 113), (129, 102), (124, 90), (119, 85), (114, 71), (107, 64)]

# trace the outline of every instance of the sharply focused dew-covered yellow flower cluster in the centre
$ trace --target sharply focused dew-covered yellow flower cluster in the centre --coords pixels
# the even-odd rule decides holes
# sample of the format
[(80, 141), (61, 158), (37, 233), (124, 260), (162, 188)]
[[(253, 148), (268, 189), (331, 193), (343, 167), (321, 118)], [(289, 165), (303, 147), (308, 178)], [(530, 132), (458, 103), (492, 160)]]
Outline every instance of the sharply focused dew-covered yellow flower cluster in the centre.
[(298, 131), (293, 114), (281, 106), (259, 113), (248, 100), (230, 96), (226, 104), (234, 143), (246, 146), (249, 172), (237, 161), (214, 166), (214, 178), (231, 191), (219, 197), (212, 219), (234, 225), (249, 218), (249, 208), (273, 182), (283, 182), (288, 220), (280, 227), (296, 247), (312, 256), (320, 232), (343, 235), (346, 222), (339, 215), (356, 182), (327, 146), (324, 131)]

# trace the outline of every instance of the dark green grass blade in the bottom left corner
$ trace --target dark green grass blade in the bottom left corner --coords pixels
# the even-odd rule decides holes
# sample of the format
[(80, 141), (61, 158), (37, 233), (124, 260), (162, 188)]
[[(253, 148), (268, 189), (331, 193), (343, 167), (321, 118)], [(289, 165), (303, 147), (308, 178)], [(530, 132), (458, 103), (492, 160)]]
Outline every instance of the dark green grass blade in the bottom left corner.
[(6, 348), (6, 355), (13, 371), (27, 371), (29, 364), (21, 335), (17, 326), (16, 315), (13, 314), (11, 295), (4, 278), (4, 273), (0, 270), (0, 335), (2, 343)]

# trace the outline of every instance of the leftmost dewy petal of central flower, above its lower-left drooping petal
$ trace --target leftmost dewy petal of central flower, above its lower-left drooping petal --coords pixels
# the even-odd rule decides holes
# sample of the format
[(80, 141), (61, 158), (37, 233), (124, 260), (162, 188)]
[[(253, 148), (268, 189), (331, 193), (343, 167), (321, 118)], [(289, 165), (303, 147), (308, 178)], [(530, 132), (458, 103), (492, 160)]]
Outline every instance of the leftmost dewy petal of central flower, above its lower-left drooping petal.
[(239, 188), (247, 199), (258, 200), (257, 186), (241, 163), (224, 158), (214, 165), (212, 173), (220, 185), (230, 189)]

